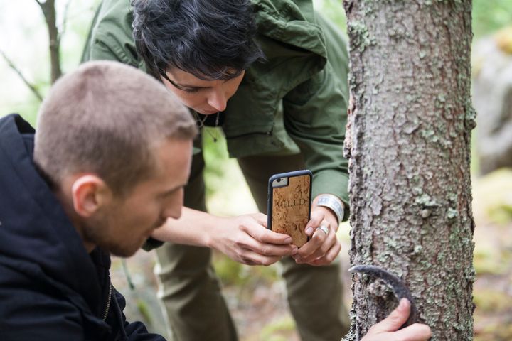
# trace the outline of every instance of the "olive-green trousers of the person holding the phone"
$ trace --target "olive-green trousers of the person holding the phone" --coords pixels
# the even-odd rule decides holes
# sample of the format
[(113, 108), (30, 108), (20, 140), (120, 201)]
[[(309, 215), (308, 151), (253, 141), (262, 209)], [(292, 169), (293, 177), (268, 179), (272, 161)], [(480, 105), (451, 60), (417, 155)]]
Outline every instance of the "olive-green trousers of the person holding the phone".
[[(253, 156), (238, 161), (261, 212), (267, 210), (270, 175), (304, 169), (299, 155)], [(184, 204), (206, 211), (203, 168), (203, 156), (194, 156)], [(211, 250), (166, 243), (156, 254), (159, 295), (174, 340), (238, 340), (213, 271)], [(348, 313), (342, 303), (339, 262), (316, 267), (295, 264), (286, 257), (281, 264), (289, 307), (302, 340), (340, 340), (348, 332)]]

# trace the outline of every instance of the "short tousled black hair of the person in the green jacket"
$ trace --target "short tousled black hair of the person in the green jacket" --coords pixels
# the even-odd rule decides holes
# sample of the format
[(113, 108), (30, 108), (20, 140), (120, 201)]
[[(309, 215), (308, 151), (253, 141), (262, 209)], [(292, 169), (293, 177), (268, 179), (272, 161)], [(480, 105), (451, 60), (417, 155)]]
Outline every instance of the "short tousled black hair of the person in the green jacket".
[(170, 67), (202, 80), (237, 77), (258, 58), (250, 0), (134, 0), (137, 53), (154, 77)]

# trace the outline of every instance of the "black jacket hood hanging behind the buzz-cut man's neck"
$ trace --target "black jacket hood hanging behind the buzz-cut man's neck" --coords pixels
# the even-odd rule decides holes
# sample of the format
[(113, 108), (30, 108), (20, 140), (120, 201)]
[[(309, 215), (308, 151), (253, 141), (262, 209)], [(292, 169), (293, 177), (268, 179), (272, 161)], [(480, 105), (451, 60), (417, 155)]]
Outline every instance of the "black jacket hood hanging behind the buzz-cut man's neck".
[(36, 171), (34, 132), (18, 114), (0, 119), (0, 262), (90, 310), (100, 306), (95, 265)]

